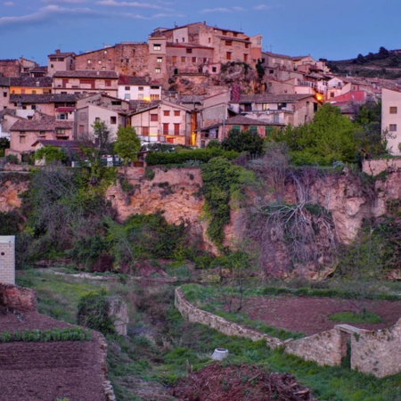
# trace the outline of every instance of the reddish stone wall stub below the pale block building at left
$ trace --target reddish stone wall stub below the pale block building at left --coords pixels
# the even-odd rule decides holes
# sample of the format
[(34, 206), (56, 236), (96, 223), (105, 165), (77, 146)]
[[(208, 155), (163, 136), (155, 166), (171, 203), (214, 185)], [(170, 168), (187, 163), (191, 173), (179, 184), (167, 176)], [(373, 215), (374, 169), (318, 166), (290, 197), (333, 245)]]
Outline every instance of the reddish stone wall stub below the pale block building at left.
[(18, 311), (37, 311), (35, 291), (18, 285), (0, 283), (0, 307)]

